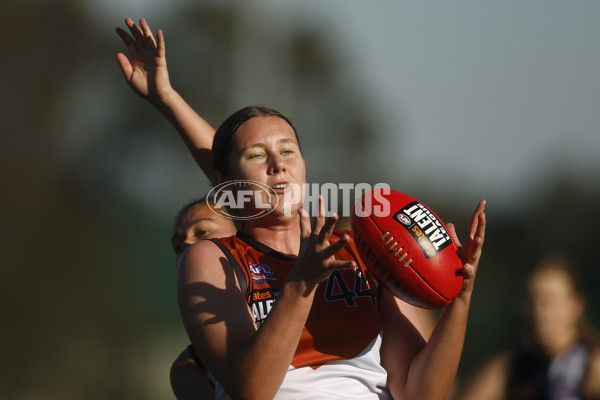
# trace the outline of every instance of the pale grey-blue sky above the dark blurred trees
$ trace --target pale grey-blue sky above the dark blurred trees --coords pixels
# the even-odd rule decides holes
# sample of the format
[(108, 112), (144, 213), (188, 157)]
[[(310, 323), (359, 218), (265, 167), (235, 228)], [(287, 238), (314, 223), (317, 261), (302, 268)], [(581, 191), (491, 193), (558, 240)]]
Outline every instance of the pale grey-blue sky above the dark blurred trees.
[[(174, 4), (88, 1), (119, 21)], [(598, 1), (255, 3), (331, 35), (385, 119), (374, 162), (408, 188), (506, 204), (559, 166), (600, 171)]]

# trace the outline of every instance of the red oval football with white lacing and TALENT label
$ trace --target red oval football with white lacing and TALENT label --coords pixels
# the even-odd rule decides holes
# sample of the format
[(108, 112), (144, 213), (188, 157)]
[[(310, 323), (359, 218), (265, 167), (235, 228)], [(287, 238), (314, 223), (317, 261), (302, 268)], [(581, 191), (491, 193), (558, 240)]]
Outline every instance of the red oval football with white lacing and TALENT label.
[(352, 213), (354, 242), (369, 272), (396, 297), (440, 308), (458, 296), (462, 262), (442, 220), (390, 189), (365, 193)]

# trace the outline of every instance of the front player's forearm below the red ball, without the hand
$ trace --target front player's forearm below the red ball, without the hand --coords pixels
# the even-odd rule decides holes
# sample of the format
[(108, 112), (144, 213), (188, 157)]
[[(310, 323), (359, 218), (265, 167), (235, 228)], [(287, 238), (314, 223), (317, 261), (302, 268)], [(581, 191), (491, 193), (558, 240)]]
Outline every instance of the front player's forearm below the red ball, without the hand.
[(450, 390), (464, 345), (470, 299), (458, 297), (442, 313), (427, 345), (410, 367), (407, 399), (444, 399)]

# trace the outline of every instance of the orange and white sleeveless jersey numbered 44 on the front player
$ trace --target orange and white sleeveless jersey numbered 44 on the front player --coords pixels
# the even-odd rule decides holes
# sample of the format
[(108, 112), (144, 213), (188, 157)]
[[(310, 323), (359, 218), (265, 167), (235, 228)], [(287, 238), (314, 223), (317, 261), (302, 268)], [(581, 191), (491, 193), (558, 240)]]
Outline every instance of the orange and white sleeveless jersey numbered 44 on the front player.
[[(335, 231), (334, 243), (347, 232)], [(273, 307), (296, 258), (285, 256), (247, 234), (211, 239), (236, 271), (257, 325)], [(354, 243), (338, 260), (360, 263)], [(352, 270), (335, 271), (315, 293), (296, 353), (276, 398), (388, 398), (380, 363), (381, 316), (377, 298)], [(217, 399), (228, 398), (217, 382)]]

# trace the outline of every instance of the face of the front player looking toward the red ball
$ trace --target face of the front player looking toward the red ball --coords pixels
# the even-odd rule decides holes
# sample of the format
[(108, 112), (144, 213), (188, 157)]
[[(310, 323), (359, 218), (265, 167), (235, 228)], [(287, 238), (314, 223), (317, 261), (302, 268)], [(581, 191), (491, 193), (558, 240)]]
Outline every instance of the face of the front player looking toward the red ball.
[(306, 166), (293, 128), (274, 116), (255, 117), (240, 126), (234, 135), (229, 156), (231, 179), (245, 179), (266, 184), (277, 195), (276, 211), (283, 215), (287, 205), (290, 215), (302, 206), (302, 187)]

